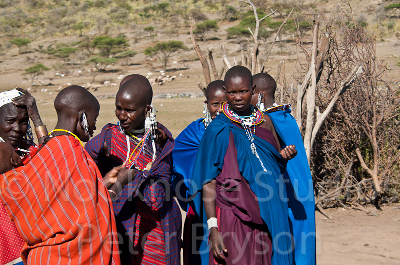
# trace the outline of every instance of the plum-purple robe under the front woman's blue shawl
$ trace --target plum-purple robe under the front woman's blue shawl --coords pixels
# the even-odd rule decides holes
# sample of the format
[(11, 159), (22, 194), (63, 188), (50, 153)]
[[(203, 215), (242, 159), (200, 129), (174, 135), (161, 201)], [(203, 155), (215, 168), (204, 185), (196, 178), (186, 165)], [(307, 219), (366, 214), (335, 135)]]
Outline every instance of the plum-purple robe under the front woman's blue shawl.
[[(255, 133), (278, 149), (272, 132), (257, 126)], [(272, 244), (268, 227), (260, 216), (255, 194), (240, 174), (232, 133), (222, 172), (216, 178), (215, 204), (218, 230), (228, 254), (224, 262), (215, 263), (209, 252), (209, 264), (270, 265)]]

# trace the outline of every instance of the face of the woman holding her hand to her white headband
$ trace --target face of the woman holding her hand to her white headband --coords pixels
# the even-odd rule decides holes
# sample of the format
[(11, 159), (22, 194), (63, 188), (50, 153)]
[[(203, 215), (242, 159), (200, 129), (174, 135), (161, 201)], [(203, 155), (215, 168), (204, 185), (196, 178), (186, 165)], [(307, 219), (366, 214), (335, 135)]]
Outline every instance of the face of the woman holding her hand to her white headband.
[(12, 103), (0, 107), (0, 137), (18, 147), (28, 130), (28, 112), (24, 108), (16, 107)]

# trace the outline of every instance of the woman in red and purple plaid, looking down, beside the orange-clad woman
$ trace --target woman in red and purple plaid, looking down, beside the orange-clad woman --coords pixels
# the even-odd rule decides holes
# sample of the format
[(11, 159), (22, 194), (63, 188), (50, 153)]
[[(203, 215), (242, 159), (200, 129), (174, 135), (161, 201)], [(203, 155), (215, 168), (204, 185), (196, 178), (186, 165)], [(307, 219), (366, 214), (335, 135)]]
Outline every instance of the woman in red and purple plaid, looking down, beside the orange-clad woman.
[(123, 78), (115, 97), (118, 124), (105, 125), (85, 146), (102, 174), (124, 162), (135, 171), (131, 183), (109, 189), (126, 265), (176, 265), (180, 258), (181, 214), (169, 184), (174, 140), (155, 121), (151, 100), (147, 78)]

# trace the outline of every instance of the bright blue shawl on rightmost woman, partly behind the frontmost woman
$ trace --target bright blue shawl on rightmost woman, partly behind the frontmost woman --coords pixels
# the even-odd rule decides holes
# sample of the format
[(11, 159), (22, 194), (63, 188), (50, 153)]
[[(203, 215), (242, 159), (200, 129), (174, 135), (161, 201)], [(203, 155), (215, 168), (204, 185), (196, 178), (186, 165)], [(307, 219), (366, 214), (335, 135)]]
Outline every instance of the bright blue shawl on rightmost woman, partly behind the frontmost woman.
[(297, 265), (315, 265), (315, 203), (303, 139), (290, 109), (268, 115), (282, 146), (294, 144), (297, 150), (297, 156), (287, 161), (283, 174), (289, 199), (290, 232), (295, 239), (293, 261)]

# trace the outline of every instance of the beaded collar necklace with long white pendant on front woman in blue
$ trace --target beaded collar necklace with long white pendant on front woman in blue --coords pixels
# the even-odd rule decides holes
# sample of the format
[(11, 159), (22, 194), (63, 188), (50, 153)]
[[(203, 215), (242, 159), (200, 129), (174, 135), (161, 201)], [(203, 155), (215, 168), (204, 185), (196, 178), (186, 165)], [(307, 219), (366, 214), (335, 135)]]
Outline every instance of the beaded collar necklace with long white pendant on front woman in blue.
[[(256, 127), (255, 125), (260, 124), (263, 121), (264, 117), (262, 115), (262, 112), (260, 112), (258, 109), (254, 108), (251, 105), (250, 107), (252, 114), (248, 116), (239, 116), (233, 109), (229, 107), (227, 103), (223, 103), (222, 110), (223, 113), (226, 115), (226, 117), (228, 117), (230, 120), (234, 122), (240, 123), (241, 127), (243, 127), (244, 131), (246, 132), (247, 139), (250, 142), (251, 152), (260, 162), (262, 170), (267, 172), (266, 168), (264, 167), (264, 164), (261, 161), (261, 158), (258, 155), (258, 152), (254, 144), (255, 127)], [(253, 126), (252, 134), (251, 134), (251, 126)]]

